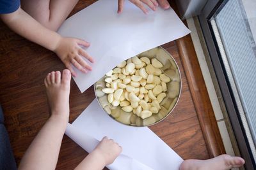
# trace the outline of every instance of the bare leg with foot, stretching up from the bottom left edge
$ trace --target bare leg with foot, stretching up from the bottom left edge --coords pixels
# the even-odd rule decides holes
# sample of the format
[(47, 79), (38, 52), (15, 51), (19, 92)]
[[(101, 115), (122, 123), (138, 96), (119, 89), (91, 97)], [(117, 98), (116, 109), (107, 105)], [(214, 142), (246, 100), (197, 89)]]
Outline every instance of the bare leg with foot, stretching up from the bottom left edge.
[(51, 117), (36, 135), (19, 169), (55, 169), (69, 116), (70, 71), (52, 72), (45, 78)]

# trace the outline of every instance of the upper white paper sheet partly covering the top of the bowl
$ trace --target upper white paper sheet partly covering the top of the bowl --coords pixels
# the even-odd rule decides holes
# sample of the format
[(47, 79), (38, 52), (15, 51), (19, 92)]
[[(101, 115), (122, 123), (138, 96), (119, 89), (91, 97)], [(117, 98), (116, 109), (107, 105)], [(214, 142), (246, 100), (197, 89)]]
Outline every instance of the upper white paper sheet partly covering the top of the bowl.
[(148, 10), (145, 15), (127, 1), (122, 14), (116, 10), (116, 0), (97, 1), (68, 18), (58, 31), (91, 43), (86, 52), (95, 59), (93, 71), (84, 74), (75, 69), (74, 80), (81, 92), (123, 60), (190, 32), (172, 8)]

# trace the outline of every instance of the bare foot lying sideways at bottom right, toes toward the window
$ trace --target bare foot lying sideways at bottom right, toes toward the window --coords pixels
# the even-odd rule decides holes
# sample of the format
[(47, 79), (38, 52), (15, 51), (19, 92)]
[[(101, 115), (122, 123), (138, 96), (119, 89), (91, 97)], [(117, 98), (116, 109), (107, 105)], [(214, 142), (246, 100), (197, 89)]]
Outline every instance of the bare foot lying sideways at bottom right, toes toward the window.
[(207, 160), (184, 160), (180, 166), (180, 170), (228, 170), (232, 167), (241, 167), (243, 164), (244, 159), (241, 157), (231, 157), (230, 155), (224, 154)]

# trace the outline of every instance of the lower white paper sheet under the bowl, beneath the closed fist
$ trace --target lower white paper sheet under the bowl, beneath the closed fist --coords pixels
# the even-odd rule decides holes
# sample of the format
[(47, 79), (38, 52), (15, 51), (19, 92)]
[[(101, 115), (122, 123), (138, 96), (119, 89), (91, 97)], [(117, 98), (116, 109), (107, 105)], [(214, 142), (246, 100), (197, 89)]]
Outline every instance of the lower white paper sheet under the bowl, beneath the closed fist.
[[(67, 129), (66, 134), (80, 146), (91, 145), (92, 143), (92, 146), (89, 148), (82, 146), (88, 152), (92, 151), (95, 143), (86, 142), (87, 139), (84, 139), (84, 136), (92, 136), (98, 141), (104, 136), (108, 136), (122, 146), (122, 155), (133, 159), (124, 159), (123, 156), (118, 157), (113, 164), (108, 166), (109, 169), (124, 169), (124, 167), (129, 167), (129, 170), (146, 170), (150, 167), (156, 170), (178, 170), (183, 161), (172, 148), (166, 145), (148, 127), (130, 127), (113, 120), (100, 108), (97, 99), (94, 99), (86, 110), (81, 113), (72, 123), (72, 126), (77, 130), (72, 131), (68, 127), (69, 129)], [(91, 139), (91, 141), (93, 140)], [(145, 167), (143, 167), (143, 164)]]

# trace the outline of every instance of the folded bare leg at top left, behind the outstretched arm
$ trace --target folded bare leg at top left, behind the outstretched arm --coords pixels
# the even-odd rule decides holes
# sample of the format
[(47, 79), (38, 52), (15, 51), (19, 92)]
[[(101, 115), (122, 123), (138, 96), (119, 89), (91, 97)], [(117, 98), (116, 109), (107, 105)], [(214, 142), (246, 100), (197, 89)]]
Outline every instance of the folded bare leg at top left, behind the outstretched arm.
[(78, 0), (21, 0), (21, 8), (40, 24), (57, 31)]

